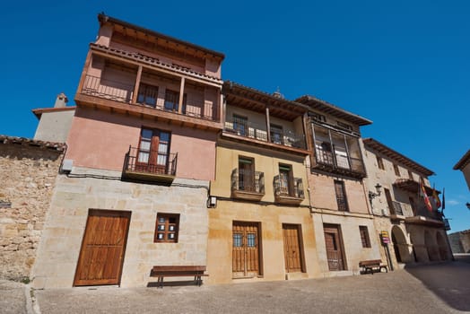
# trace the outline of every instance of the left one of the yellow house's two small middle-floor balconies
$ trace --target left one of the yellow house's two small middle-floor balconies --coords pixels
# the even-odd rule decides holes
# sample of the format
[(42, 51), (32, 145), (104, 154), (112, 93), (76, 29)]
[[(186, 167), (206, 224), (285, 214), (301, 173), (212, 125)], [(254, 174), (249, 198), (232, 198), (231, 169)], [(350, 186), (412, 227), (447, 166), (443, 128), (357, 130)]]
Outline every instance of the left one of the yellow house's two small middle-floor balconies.
[(231, 171), (231, 195), (250, 201), (260, 201), (265, 196), (265, 173), (234, 169)]

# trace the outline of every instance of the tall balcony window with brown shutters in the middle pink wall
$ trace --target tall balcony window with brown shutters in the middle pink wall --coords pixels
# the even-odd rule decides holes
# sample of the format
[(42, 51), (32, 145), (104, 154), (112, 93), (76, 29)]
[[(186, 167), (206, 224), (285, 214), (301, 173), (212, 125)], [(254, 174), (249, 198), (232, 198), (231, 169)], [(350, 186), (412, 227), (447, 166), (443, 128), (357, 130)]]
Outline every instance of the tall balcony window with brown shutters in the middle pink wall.
[(166, 173), (170, 152), (170, 133), (157, 129), (141, 130), (136, 170)]

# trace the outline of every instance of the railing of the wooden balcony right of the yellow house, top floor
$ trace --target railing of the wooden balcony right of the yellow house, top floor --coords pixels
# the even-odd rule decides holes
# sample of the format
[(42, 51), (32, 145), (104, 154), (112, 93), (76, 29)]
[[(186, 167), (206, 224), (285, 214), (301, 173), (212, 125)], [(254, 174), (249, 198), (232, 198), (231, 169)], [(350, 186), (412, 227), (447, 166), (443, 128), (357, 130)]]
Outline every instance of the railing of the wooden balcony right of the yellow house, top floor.
[(335, 155), (330, 151), (320, 147), (316, 148), (314, 168), (324, 170), (334, 170), (337, 172), (345, 172), (349, 174), (356, 174), (357, 176), (365, 176), (364, 166), (361, 158), (347, 157), (344, 154), (335, 152)]

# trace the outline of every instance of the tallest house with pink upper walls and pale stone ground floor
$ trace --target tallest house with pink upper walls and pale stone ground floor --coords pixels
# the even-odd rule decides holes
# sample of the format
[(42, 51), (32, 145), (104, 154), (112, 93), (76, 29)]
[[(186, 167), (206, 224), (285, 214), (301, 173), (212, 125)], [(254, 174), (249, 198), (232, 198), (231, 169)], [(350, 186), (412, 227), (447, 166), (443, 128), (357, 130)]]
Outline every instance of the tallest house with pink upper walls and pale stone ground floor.
[[(99, 14), (36, 288), (145, 286), (155, 265), (206, 265), (224, 56)], [(49, 128), (51, 129), (51, 128)]]

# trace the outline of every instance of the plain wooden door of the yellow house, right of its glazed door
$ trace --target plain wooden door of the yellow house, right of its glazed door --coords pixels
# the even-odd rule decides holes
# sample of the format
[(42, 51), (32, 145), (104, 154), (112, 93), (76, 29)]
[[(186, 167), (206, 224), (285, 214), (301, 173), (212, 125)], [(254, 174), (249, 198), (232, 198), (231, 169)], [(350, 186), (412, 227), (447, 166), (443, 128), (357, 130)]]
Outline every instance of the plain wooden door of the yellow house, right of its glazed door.
[(284, 260), (286, 273), (302, 272), (302, 248), (299, 237), (299, 226), (283, 224)]

